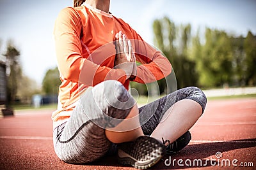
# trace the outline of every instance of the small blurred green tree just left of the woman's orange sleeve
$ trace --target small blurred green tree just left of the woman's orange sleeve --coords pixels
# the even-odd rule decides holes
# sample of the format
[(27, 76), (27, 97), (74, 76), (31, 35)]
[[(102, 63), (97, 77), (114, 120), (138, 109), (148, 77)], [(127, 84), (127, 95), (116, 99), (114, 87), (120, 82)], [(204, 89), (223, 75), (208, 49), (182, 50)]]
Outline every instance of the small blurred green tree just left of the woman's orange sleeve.
[(60, 83), (58, 67), (49, 69), (44, 76), (43, 91), (45, 94), (58, 94)]

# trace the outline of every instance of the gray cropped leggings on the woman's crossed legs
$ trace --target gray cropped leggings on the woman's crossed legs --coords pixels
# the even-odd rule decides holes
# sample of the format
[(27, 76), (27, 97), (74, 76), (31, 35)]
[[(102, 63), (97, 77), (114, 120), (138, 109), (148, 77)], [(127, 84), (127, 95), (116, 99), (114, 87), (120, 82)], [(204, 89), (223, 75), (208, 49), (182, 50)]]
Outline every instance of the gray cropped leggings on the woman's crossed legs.
[[(207, 100), (202, 90), (196, 87), (180, 89), (139, 108), (143, 132), (152, 134), (168, 108), (182, 99), (196, 101), (204, 112)], [(104, 128), (122, 122), (134, 103), (119, 81), (104, 81), (86, 90), (68, 121), (53, 131), (58, 157), (71, 164), (83, 164), (114, 153), (116, 145), (106, 138)]]

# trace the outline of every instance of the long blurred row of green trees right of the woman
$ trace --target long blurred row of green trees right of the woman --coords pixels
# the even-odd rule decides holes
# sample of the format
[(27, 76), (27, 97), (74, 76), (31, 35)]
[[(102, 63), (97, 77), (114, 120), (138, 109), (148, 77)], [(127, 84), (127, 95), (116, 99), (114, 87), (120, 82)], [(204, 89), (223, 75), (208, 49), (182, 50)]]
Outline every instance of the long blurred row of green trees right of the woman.
[(177, 26), (168, 17), (154, 20), (153, 31), (154, 45), (170, 60), (178, 89), (256, 85), (256, 36), (252, 32), (234, 37), (205, 28), (204, 36), (199, 29), (192, 36), (190, 24)]

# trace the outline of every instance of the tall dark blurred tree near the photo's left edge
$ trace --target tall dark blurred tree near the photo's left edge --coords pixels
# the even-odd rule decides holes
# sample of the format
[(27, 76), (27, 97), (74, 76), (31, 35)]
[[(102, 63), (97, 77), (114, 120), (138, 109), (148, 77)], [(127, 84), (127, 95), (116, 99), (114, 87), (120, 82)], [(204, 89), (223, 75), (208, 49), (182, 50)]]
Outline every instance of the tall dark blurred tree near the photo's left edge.
[(19, 62), (20, 51), (13, 45), (12, 40), (8, 41), (6, 53), (3, 55), (6, 57), (7, 103), (10, 104), (17, 97), (17, 82), (22, 74)]

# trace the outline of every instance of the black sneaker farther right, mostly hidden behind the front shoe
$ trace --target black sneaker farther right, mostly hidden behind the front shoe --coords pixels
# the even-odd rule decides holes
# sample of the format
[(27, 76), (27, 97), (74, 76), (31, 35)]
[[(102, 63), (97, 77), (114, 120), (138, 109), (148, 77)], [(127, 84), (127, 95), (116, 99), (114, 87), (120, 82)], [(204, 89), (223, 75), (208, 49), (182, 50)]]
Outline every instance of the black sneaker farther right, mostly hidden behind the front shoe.
[(188, 131), (180, 136), (180, 138), (176, 139), (173, 143), (170, 143), (169, 140), (164, 141), (163, 138), (162, 140), (164, 145), (168, 143), (168, 145), (166, 146), (166, 154), (171, 154), (178, 152), (182, 150), (185, 146), (187, 146), (189, 141), (191, 140), (191, 134)]

